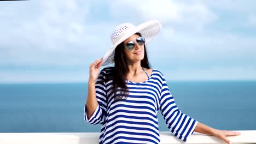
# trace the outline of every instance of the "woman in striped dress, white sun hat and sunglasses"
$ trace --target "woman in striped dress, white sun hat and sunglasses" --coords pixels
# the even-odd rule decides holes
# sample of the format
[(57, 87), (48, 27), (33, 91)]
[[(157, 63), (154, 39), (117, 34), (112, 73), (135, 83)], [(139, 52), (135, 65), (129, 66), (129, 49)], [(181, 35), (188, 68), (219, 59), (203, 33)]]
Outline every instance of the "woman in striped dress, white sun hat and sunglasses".
[[(158, 111), (167, 127), (183, 141), (194, 131), (219, 137), (240, 135), (217, 130), (182, 113), (170, 94), (164, 75), (150, 68), (146, 46), (161, 29), (158, 21), (115, 28), (113, 46), (90, 65), (84, 119), (102, 124), (100, 143), (160, 143)], [(100, 71), (101, 65), (114, 63)], [(98, 73), (100, 73), (98, 75)]]

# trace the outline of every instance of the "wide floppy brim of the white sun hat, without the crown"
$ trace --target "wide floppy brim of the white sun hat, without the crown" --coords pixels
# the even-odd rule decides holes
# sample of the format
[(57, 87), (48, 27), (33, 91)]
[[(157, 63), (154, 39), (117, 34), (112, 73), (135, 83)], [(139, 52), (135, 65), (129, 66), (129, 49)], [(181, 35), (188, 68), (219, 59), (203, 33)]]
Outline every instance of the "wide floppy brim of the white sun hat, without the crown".
[(131, 35), (135, 33), (140, 33), (142, 37), (145, 38), (145, 45), (147, 46), (154, 38), (155, 35), (158, 34), (158, 32), (161, 30), (161, 24), (157, 20), (151, 20), (144, 23), (141, 23), (141, 25), (138, 25), (134, 29), (131, 29), (130, 32), (127, 32), (121, 39), (117, 41), (113, 46), (109, 48), (109, 50), (104, 55), (102, 61), (102, 65), (109, 65), (114, 63), (114, 55), (115, 55), (115, 48), (121, 44), (124, 40), (131, 37)]

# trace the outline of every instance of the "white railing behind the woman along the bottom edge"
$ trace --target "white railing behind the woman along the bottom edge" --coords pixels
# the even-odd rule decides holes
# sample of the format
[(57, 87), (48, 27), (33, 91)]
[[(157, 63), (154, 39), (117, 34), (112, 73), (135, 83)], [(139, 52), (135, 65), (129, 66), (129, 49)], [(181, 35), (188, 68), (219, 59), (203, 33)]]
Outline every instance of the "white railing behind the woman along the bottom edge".
[[(232, 143), (256, 143), (256, 130), (241, 130), (241, 135), (231, 136)], [(1, 144), (95, 144), (98, 143), (100, 133), (0, 133)], [(160, 132), (161, 143), (184, 143), (174, 137), (170, 131)], [(224, 143), (213, 136), (194, 133), (185, 143)]]

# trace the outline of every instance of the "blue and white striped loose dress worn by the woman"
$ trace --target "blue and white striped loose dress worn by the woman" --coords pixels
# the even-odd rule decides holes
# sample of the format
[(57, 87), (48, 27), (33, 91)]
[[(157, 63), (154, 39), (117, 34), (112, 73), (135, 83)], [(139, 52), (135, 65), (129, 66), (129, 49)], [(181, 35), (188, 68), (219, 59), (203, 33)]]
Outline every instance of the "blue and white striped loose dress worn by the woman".
[(144, 82), (126, 81), (129, 95), (125, 100), (114, 101), (112, 80), (106, 74), (114, 67), (101, 70), (96, 81), (98, 106), (88, 119), (86, 106), (84, 120), (102, 124), (99, 143), (160, 143), (158, 111), (161, 111), (168, 129), (183, 141), (193, 134), (197, 121), (182, 113), (168, 89), (164, 75), (153, 69)]

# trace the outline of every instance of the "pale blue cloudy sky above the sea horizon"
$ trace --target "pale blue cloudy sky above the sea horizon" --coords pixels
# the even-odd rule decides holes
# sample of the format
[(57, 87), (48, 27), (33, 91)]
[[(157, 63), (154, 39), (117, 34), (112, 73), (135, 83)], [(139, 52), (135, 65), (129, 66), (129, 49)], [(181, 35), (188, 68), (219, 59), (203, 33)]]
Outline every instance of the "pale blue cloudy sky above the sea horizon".
[[(0, 2), (0, 83), (86, 82), (121, 23), (159, 20), (149, 62), (168, 81), (256, 80), (256, 1)], [(101, 69), (104, 67), (101, 67)]]

